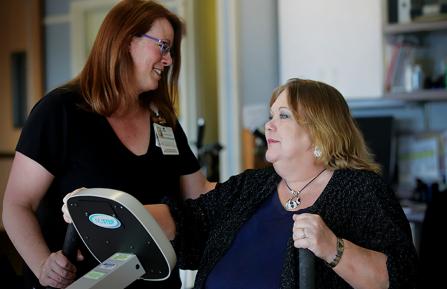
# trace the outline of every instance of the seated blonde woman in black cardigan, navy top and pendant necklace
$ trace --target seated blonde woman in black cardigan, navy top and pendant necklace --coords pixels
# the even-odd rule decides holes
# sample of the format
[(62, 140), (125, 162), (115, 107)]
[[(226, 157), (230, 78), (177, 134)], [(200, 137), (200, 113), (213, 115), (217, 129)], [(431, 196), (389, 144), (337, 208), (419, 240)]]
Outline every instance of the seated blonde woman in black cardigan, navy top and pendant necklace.
[(409, 223), (343, 96), (291, 79), (273, 92), (265, 131), (273, 168), (168, 201), (194, 288), (298, 288), (297, 248), (317, 257), (316, 288), (414, 288)]

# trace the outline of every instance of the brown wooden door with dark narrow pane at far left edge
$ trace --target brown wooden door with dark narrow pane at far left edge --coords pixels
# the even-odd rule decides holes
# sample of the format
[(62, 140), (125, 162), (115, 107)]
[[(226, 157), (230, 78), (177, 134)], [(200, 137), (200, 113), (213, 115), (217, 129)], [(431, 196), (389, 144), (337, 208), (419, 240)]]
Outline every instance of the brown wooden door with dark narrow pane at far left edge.
[(14, 152), (17, 111), (28, 114), (42, 97), (41, 8), (41, 0), (0, 1), (0, 154)]

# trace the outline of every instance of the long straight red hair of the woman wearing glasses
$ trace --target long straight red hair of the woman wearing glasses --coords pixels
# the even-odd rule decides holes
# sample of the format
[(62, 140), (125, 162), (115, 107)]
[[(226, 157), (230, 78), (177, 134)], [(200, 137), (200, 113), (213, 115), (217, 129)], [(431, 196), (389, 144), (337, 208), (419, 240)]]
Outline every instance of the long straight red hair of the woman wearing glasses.
[(79, 87), (89, 110), (110, 116), (121, 105), (134, 101), (138, 93), (129, 45), (133, 37), (146, 33), (160, 18), (167, 19), (174, 30), (170, 51), (172, 65), (163, 73), (156, 90), (138, 97), (142, 106), (149, 109), (153, 103), (169, 124), (175, 124), (183, 24), (174, 13), (155, 1), (121, 0), (106, 15), (83, 70), (69, 83)]

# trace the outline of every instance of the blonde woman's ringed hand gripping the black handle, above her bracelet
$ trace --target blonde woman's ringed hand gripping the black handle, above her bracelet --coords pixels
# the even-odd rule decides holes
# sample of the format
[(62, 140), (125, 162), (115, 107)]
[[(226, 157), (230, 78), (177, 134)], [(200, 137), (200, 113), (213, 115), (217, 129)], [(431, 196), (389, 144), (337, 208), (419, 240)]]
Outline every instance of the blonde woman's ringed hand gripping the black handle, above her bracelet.
[(331, 262), (337, 253), (337, 237), (319, 215), (293, 215), (293, 245), (311, 250), (315, 256)]

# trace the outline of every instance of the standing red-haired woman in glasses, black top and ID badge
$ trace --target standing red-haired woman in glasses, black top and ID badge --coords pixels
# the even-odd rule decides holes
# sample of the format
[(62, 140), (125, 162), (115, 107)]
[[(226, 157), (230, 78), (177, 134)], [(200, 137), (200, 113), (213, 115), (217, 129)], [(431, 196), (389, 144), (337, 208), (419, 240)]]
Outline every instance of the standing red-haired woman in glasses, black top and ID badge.
[[(4, 226), (28, 266), (26, 288), (64, 288), (76, 272), (97, 264), (86, 250), (76, 267), (61, 253), (66, 225), (60, 204), (67, 193), (112, 188), (157, 204), (213, 188), (174, 111), (182, 32), (180, 19), (160, 4), (120, 1), (105, 17), (81, 73), (33, 108), (3, 202)], [(166, 144), (160, 130), (175, 143)], [(130, 288), (180, 286), (173, 272), (166, 281)]]

